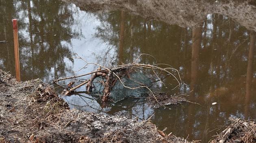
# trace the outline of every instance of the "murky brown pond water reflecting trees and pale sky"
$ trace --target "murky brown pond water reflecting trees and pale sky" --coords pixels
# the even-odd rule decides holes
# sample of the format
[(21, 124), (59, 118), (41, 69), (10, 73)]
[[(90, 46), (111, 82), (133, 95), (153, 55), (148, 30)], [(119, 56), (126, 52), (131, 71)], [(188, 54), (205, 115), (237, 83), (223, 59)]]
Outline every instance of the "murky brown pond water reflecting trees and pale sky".
[[(154, 114), (152, 122), (160, 129), (167, 127), (167, 133), (202, 142), (216, 135), (219, 131), (213, 129), (226, 124), (231, 116), (256, 119), (255, 27), (244, 24), (247, 21), (208, 13), (199, 24), (186, 27), (123, 10), (82, 9), (58, 0), (0, 0), (0, 41), (8, 41), (0, 43), (0, 68), (15, 75), (11, 20), (16, 18), (22, 80), (51, 82), (97, 68), (91, 65), (78, 71), (85, 63), (72, 58), (72, 53), (106, 66), (131, 63), (147, 53), (158, 63), (172, 65), (181, 75), (180, 88), (171, 91), (174, 85), (169, 83), (174, 79), (167, 78), (167, 88), (157, 83), (159, 91), (191, 91), (187, 98), (201, 105), (183, 103), (152, 109), (144, 99), (127, 99), (106, 106), (95, 100), (97, 96), (81, 92), (64, 97), (71, 107), (104, 114), (121, 111), (140, 120)], [(147, 57), (140, 61), (155, 62)]]

